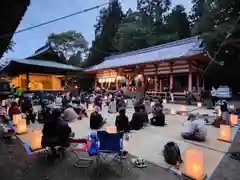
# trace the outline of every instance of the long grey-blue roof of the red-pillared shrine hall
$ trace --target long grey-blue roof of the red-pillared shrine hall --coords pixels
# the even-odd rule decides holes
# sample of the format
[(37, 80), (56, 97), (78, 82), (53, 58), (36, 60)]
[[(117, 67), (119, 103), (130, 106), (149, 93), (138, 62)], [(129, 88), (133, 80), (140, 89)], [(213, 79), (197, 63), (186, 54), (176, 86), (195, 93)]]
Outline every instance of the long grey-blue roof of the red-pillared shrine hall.
[(104, 62), (93, 66), (86, 71), (96, 71), (115, 67), (124, 67), (142, 63), (171, 60), (184, 56), (192, 56), (203, 52), (202, 40), (191, 37), (179, 41), (153, 46), (124, 54), (109, 56)]

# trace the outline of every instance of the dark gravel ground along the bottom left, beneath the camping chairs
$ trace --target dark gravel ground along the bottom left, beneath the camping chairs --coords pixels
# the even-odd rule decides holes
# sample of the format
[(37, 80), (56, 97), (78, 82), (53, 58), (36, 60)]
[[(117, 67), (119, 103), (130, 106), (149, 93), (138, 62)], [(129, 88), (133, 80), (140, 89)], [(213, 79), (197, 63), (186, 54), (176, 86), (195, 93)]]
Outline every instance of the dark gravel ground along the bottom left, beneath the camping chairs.
[[(75, 156), (67, 153), (65, 158), (47, 163), (45, 154), (28, 156), (18, 140), (4, 143), (0, 140), (0, 174), (1, 180), (115, 180), (120, 179), (111, 170), (102, 166), (102, 174), (96, 177), (86, 169), (75, 168)], [(179, 177), (164, 169), (148, 164), (145, 169), (137, 169), (130, 164), (131, 158), (125, 162), (125, 180), (178, 180)]]

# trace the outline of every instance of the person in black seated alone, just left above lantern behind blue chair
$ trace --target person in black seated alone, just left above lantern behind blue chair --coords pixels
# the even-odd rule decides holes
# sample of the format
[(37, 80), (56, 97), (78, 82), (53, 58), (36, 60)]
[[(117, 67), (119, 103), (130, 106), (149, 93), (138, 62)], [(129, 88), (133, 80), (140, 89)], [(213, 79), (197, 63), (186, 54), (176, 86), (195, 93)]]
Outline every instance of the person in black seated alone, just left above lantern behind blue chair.
[(90, 115), (90, 128), (93, 130), (100, 129), (106, 123), (102, 115), (99, 113), (100, 110), (99, 106), (95, 106), (94, 112)]

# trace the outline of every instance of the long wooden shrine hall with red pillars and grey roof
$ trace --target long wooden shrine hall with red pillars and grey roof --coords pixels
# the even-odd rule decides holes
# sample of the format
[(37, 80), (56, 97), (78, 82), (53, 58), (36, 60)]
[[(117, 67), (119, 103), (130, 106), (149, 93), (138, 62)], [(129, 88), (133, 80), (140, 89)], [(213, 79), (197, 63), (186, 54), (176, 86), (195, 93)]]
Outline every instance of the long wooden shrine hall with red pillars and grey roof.
[(209, 61), (202, 40), (191, 37), (109, 56), (86, 71), (96, 75), (96, 86), (109, 90), (125, 87), (127, 91), (161, 93), (172, 87), (183, 93), (204, 86), (201, 75)]

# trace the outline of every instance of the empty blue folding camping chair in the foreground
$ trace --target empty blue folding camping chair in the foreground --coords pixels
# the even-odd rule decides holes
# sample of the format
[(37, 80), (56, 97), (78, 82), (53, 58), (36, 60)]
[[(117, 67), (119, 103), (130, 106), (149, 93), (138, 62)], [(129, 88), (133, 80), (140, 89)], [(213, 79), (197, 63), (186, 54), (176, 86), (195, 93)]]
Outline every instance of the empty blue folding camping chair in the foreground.
[[(100, 163), (106, 163), (108, 167), (121, 177), (123, 171), (123, 132), (108, 133), (106, 131), (98, 131), (97, 138), (99, 144), (96, 159), (97, 166), (99, 166)], [(111, 160), (110, 155), (114, 156)], [(112, 166), (114, 160), (118, 161), (120, 172)]]

